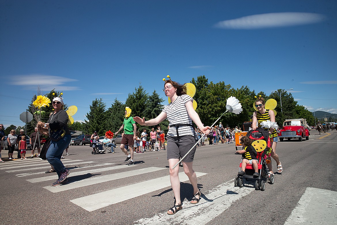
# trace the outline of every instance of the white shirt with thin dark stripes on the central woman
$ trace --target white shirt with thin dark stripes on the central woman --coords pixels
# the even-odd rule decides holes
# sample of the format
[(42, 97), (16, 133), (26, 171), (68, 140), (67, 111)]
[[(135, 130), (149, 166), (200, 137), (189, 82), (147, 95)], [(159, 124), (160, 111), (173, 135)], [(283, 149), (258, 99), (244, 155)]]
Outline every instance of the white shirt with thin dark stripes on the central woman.
[[(193, 99), (189, 95), (181, 95), (178, 98), (166, 105), (163, 112), (166, 113), (167, 120), (170, 125), (173, 124), (192, 124), (192, 119), (189, 117), (185, 104)], [(178, 128), (179, 136), (194, 136), (193, 127), (182, 126)], [(170, 127), (168, 129), (168, 136), (177, 137), (176, 127)]]

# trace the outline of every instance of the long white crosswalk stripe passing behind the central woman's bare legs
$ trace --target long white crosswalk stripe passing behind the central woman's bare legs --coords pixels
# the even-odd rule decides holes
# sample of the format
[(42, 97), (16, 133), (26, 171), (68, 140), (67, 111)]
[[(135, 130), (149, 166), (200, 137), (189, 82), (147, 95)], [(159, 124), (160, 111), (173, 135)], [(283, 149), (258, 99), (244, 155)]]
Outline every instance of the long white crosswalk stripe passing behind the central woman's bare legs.
[[(206, 174), (207, 173), (196, 172), (196, 175), (198, 177)], [(181, 172), (179, 173), (179, 179), (180, 182), (184, 182), (188, 180), (188, 176), (184, 172)], [(116, 204), (118, 202), (122, 202), (170, 186), (170, 176), (163, 176), (161, 178), (156, 178), (149, 181), (112, 189), (109, 191), (76, 198), (70, 201), (84, 208), (85, 210), (92, 212), (94, 210), (98, 210), (99, 208)]]

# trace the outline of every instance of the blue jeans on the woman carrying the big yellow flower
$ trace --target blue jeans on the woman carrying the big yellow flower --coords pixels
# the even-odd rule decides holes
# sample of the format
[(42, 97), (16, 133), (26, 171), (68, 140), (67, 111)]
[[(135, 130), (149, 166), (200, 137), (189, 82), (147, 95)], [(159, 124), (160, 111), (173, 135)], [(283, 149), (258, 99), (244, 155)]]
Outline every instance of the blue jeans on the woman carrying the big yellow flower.
[(50, 147), (47, 151), (45, 157), (47, 158), (48, 162), (54, 166), (57, 175), (61, 175), (66, 171), (65, 166), (61, 162), (61, 156), (63, 151), (69, 146), (71, 140), (71, 135), (66, 134), (63, 138), (58, 141), (50, 141)]

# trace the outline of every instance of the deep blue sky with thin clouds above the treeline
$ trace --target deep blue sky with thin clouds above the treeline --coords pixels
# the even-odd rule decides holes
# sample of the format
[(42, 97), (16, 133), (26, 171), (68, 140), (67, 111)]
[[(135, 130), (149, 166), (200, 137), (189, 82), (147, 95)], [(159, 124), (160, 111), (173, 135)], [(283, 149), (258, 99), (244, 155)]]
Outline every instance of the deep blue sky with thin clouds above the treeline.
[(170, 74), (205, 75), (267, 94), (290, 89), (310, 111), (337, 113), (337, 2), (0, 1), (0, 123), (23, 126), (37, 86), (64, 93), (84, 121), (141, 85), (161, 97)]

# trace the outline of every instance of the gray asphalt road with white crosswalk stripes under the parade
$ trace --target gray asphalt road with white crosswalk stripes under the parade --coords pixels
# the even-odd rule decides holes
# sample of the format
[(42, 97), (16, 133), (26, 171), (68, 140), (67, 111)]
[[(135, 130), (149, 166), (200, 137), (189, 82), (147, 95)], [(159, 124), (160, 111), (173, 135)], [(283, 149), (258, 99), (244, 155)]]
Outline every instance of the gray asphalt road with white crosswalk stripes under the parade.
[[(134, 154), (135, 164), (124, 166), (125, 155), (92, 155), (89, 146), (70, 146), (63, 160), (70, 168), (69, 183), (51, 184), (48, 162), (15, 160), (0, 164), (0, 215), (3, 224), (336, 224), (336, 131), (309, 140), (278, 142), (284, 171), (273, 185), (255, 190), (251, 181), (234, 187), (240, 155), (235, 144), (197, 148), (194, 170), (203, 193), (190, 204), (192, 186), (181, 183), (183, 210), (173, 216), (173, 192), (167, 182), (166, 151)], [(6, 156), (2, 151), (2, 156)], [(27, 154), (28, 155), (28, 154)], [(75, 161), (81, 160), (81, 161)], [(276, 171), (275, 161), (272, 161)], [(180, 167), (183, 173), (183, 168)], [(52, 177), (50, 177), (52, 176)], [(183, 176), (182, 176), (183, 179)]]

